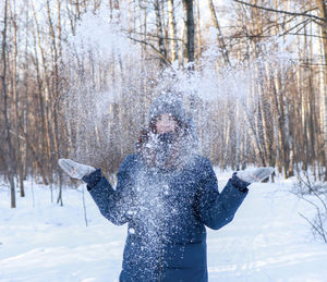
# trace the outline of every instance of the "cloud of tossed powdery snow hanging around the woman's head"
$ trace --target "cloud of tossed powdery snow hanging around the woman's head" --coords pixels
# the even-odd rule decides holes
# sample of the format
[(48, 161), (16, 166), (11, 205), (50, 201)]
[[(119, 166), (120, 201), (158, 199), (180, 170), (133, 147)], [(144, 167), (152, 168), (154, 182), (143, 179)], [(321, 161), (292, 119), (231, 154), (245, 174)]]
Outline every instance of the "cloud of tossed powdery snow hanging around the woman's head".
[[(162, 71), (122, 29), (121, 24), (92, 13), (84, 15), (68, 40), (63, 60), (70, 83), (63, 109), (71, 158), (117, 171), (122, 159), (135, 151), (150, 102), (167, 88), (182, 97), (192, 115), (202, 155), (237, 168), (240, 150), (254, 154), (257, 135), (272, 126), (263, 125), (259, 118), (262, 111), (269, 117), (274, 110), (267, 89), (280, 76), (277, 90), (283, 90), (286, 73), (293, 65), (291, 53), (271, 52), (275, 45), (267, 42), (262, 49), (268, 51), (257, 59), (219, 69), (221, 54), (211, 44), (192, 73), (178, 63)], [(272, 130), (266, 134), (275, 138)]]

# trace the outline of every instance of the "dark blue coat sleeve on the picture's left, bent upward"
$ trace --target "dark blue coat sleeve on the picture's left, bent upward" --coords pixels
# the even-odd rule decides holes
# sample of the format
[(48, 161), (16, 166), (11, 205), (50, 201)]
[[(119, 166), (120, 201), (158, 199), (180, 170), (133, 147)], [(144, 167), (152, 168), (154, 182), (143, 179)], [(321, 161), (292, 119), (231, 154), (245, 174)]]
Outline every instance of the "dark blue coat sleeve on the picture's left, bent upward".
[(129, 221), (129, 209), (133, 206), (132, 177), (130, 168), (133, 157), (129, 156), (122, 162), (118, 172), (116, 189), (101, 174), (100, 169), (83, 177), (87, 183), (87, 191), (98, 206), (101, 214), (113, 224), (122, 225)]

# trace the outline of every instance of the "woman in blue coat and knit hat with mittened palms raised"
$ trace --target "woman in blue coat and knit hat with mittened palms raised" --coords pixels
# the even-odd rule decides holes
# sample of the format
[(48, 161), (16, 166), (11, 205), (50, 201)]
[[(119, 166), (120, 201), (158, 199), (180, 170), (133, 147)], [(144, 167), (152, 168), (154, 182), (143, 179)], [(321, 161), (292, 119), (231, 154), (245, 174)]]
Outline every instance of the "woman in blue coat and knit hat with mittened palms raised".
[(208, 280), (206, 229), (229, 223), (251, 182), (271, 168), (234, 173), (221, 192), (208, 159), (196, 155), (197, 136), (181, 100), (164, 93), (150, 106), (137, 151), (128, 156), (116, 189), (99, 169), (69, 159), (59, 164), (83, 179), (100, 212), (129, 224), (121, 282)]

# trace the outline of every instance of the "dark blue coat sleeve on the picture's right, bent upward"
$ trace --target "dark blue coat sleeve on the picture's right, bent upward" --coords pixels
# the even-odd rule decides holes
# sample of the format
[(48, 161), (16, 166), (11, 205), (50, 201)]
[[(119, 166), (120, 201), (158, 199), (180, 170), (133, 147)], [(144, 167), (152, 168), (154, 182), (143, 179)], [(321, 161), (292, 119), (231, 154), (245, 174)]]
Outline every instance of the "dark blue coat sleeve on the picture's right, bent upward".
[(209, 160), (204, 161), (204, 171), (194, 201), (194, 210), (202, 223), (218, 230), (232, 221), (238, 208), (247, 195), (250, 183), (240, 180), (235, 173), (221, 193)]

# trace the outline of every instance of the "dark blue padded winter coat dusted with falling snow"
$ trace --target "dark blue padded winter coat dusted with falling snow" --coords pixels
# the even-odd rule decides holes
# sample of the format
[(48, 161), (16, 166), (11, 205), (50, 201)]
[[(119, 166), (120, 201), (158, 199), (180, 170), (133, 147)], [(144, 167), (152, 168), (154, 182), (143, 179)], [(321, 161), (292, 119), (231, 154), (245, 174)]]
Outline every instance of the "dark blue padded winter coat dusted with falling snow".
[(229, 223), (249, 185), (233, 174), (219, 193), (209, 160), (197, 155), (175, 171), (148, 168), (130, 155), (116, 189), (100, 170), (83, 180), (104, 217), (129, 224), (121, 282), (207, 281), (205, 226)]

